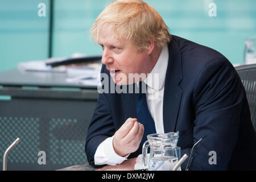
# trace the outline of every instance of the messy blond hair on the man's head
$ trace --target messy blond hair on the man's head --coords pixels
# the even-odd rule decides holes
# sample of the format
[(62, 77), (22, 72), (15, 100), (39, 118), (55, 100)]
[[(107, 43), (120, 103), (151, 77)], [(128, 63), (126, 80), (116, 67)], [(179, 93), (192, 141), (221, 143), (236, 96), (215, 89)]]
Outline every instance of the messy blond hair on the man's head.
[(130, 40), (139, 50), (147, 49), (152, 37), (159, 48), (171, 40), (162, 17), (141, 0), (113, 1), (106, 6), (90, 30), (94, 42), (98, 42), (98, 33), (105, 26), (113, 26), (118, 39)]

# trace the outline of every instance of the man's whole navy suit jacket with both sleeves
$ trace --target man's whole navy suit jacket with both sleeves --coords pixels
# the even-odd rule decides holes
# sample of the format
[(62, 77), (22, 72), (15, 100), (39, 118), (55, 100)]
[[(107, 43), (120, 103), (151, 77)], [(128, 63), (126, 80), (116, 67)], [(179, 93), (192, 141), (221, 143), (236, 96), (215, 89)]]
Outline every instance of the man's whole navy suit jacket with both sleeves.
[[(214, 49), (172, 35), (164, 85), (164, 132), (179, 131), (181, 156), (197, 145), (190, 170), (256, 169), (256, 133), (240, 77)], [(102, 73), (109, 75), (105, 65)], [(109, 81), (112, 78), (109, 76)], [(94, 165), (98, 145), (127, 118), (137, 118), (133, 93), (102, 93), (88, 128), (85, 152)], [(216, 152), (216, 164), (212, 153)], [(142, 145), (129, 158), (142, 153)], [(188, 159), (181, 169), (185, 169)], [(97, 167), (97, 166), (96, 166)]]

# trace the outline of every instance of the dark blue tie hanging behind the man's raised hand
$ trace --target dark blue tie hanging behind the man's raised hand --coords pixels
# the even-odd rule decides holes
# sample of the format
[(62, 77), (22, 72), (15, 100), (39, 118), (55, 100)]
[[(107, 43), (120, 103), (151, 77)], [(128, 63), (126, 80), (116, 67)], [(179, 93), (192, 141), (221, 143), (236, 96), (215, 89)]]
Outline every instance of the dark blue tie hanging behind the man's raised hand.
[(137, 119), (139, 123), (144, 125), (144, 134), (141, 146), (147, 140), (147, 135), (156, 133), (155, 122), (147, 107), (146, 93), (140, 92), (137, 96)]

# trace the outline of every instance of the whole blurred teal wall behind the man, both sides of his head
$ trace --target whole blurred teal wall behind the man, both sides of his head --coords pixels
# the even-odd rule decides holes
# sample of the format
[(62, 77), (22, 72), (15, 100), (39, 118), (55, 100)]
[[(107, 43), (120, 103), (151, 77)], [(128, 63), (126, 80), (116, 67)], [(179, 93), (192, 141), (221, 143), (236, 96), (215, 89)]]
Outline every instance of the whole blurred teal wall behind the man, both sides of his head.
[[(89, 30), (109, 0), (2, 0), (0, 2), (0, 72), (20, 62), (101, 55)], [(171, 34), (221, 52), (232, 64), (243, 63), (245, 40), (256, 35), (255, 0), (145, 0), (162, 15)], [(210, 17), (210, 3), (217, 16)], [(46, 16), (38, 16), (39, 3)], [(51, 16), (52, 7), (52, 16)], [(52, 17), (52, 19), (51, 19)], [(52, 29), (50, 22), (52, 20)]]

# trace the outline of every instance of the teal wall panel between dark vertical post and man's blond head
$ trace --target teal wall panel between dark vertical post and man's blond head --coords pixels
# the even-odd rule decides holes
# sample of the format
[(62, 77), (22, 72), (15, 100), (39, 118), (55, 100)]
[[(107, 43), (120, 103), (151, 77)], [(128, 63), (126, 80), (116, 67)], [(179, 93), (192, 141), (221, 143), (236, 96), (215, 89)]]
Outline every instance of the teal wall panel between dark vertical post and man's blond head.
[(85, 55), (101, 54), (90, 39), (90, 27), (109, 1), (56, 0), (54, 9), (53, 56), (71, 56), (73, 53)]

